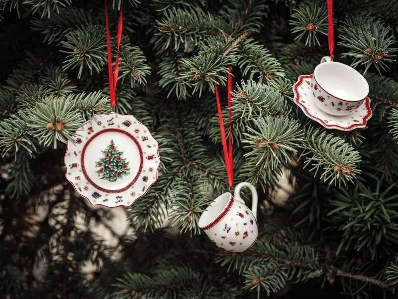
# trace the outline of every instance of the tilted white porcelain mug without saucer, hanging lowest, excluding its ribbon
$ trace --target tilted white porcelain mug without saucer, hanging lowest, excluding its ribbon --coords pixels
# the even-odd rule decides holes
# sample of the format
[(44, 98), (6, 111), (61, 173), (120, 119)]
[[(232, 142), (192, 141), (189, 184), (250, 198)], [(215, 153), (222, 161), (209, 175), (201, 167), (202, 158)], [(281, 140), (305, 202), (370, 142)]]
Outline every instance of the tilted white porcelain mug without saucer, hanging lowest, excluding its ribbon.
[[(240, 190), (248, 187), (252, 192), (250, 210), (240, 197)], [(218, 196), (200, 216), (199, 227), (218, 247), (242, 252), (249, 249), (257, 240), (257, 191), (248, 183), (242, 182), (235, 188), (234, 196), (226, 192)]]

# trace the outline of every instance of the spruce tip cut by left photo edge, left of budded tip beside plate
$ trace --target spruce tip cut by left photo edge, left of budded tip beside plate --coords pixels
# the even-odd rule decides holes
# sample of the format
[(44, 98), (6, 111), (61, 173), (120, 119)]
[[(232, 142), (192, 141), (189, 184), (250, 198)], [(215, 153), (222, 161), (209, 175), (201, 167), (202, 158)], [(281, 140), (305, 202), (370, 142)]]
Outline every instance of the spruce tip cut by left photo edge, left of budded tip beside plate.
[(30, 156), (36, 147), (29, 138), (29, 129), (27, 128), (27, 115), (23, 112), (16, 115), (10, 115), (10, 118), (0, 122), (0, 149), (4, 155), (12, 149), (17, 158), (19, 148), (25, 149)]

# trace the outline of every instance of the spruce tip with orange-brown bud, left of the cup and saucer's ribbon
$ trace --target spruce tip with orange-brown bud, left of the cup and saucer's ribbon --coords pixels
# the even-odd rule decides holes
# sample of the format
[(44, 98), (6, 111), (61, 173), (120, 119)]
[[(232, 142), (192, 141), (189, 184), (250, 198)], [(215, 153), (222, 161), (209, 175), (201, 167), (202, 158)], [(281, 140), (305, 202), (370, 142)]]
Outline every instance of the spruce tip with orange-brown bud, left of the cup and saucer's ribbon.
[(295, 40), (300, 40), (306, 36), (305, 45), (320, 45), (318, 33), (327, 35), (327, 9), (326, 3), (318, 4), (309, 1), (302, 2), (292, 14), (289, 23), (294, 25), (292, 33), (299, 33)]

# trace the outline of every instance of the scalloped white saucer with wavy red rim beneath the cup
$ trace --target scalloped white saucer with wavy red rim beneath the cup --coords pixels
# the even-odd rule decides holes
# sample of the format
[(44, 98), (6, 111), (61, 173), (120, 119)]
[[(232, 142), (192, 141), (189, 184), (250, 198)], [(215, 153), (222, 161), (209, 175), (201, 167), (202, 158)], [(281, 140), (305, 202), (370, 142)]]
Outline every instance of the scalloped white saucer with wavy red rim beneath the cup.
[(336, 116), (328, 114), (318, 108), (311, 94), (310, 82), (312, 75), (301, 75), (293, 85), (295, 94), (294, 102), (310, 119), (318, 122), (327, 129), (351, 131), (365, 128), (367, 121), (372, 116), (370, 99), (366, 97), (364, 103), (348, 115)]

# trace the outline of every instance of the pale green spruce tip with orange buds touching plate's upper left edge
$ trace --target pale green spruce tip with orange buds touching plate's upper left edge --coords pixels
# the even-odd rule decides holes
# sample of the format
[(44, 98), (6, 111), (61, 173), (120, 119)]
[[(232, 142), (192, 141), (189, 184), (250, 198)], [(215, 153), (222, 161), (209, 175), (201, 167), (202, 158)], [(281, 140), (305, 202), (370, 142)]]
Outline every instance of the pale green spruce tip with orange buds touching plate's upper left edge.
[(74, 142), (72, 137), (83, 124), (83, 117), (76, 113), (75, 105), (73, 96), (46, 97), (30, 110), (28, 127), (32, 128), (31, 134), (45, 147), (52, 143), (54, 149), (57, 148), (57, 140)]

